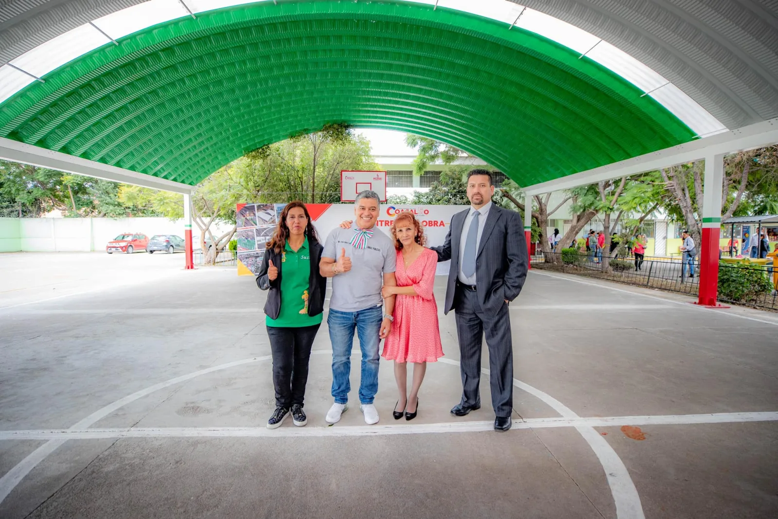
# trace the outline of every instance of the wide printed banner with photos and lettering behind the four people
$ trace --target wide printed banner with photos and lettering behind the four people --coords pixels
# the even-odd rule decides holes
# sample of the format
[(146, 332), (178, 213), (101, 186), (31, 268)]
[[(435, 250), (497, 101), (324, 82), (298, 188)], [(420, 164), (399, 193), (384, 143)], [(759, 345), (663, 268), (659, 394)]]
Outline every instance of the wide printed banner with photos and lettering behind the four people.
[[(237, 205), (238, 275), (256, 275), (265, 254), (265, 243), (275, 232), (281, 211), (286, 204)], [(353, 204), (307, 204), (321, 243), (343, 220), (354, 219)], [(451, 216), (468, 209), (469, 205), (386, 205), (380, 206), (376, 228), (390, 235), (394, 218), (410, 211), (422, 223), (427, 247), (442, 245), (446, 239)], [(448, 275), (450, 261), (437, 265), (437, 275)]]

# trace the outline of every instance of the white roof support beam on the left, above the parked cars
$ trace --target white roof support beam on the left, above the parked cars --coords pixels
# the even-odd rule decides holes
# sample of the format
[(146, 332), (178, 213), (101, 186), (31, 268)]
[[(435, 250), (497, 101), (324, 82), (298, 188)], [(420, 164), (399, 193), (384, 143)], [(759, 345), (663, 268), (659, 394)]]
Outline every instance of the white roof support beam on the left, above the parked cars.
[(125, 170), (121, 167), (95, 162), (94, 160), (54, 152), (50, 149), (31, 146), (30, 144), (5, 139), (4, 137), (0, 137), (0, 158), (30, 164), (31, 166), (65, 171), (65, 173), (102, 178), (107, 181), (133, 184), (144, 188), (173, 191), (174, 193), (183, 193), (184, 195), (191, 193), (194, 188), (180, 182), (168, 181), (163, 178), (138, 173), (137, 171)]

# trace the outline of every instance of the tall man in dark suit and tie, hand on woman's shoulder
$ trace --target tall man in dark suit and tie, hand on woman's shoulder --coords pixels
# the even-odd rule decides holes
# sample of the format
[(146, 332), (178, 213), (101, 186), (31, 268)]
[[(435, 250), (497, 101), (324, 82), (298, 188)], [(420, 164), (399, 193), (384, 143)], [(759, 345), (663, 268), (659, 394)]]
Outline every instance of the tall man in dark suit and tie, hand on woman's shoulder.
[(510, 429), (513, 412), (513, 344), (508, 303), (527, 279), (529, 258), (524, 225), (517, 212), (492, 204), (494, 184), (487, 170), (468, 174), (471, 207), (451, 219), (445, 243), (431, 247), (438, 261), (451, 260), (443, 311), (457, 318), (462, 399), (451, 409), (465, 416), (481, 407), (481, 346), (489, 347), (489, 386), (494, 428)]

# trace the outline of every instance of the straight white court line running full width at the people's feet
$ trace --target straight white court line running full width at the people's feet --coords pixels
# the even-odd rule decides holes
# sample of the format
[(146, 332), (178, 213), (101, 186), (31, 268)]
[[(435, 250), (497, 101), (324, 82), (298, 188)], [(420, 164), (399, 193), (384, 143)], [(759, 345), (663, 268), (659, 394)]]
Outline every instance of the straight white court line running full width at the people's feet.
[[(618, 427), (695, 425), (700, 423), (776, 422), (778, 412), (717, 412), (699, 415), (592, 416), (530, 418), (514, 421), (511, 430), (549, 427)], [(494, 429), (493, 421), (419, 423), (412, 425), (281, 427), (114, 427), (108, 429), (41, 429), (0, 431), (0, 440), (103, 440), (109, 438), (254, 438), (354, 437), (396, 434), (473, 433)]]

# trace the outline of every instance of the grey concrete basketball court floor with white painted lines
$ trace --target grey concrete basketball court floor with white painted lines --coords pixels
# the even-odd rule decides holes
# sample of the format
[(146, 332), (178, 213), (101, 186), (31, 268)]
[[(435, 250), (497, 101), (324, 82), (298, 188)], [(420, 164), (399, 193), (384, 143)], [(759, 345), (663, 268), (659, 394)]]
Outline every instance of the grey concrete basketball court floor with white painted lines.
[(486, 376), (482, 409), (450, 416), (442, 312), (415, 420), (392, 419), (382, 361), (366, 426), (355, 346), (351, 409), (327, 426), (323, 324), (308, 425), (267, 430), (265, 293), (183, 261), (0, 255), (0, 517), (778, 516), (778, 314), (531, 272), (513, 430), (492, 430)]

